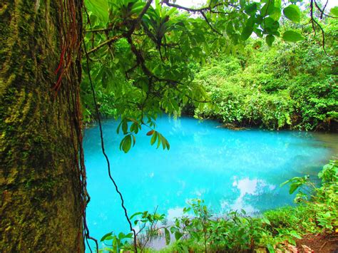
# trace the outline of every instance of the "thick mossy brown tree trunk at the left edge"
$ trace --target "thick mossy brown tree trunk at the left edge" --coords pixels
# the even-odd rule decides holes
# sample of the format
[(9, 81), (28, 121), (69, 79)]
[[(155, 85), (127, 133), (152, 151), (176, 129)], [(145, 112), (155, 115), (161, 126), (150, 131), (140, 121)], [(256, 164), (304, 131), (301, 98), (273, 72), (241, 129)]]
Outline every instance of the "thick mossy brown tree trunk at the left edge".
[[(0, 1), (0, 252), (84, 248), (79, 49), (53, 90), (65, 26), (61, 4)], [(81, 7), (74, 13), (81, 34)]]

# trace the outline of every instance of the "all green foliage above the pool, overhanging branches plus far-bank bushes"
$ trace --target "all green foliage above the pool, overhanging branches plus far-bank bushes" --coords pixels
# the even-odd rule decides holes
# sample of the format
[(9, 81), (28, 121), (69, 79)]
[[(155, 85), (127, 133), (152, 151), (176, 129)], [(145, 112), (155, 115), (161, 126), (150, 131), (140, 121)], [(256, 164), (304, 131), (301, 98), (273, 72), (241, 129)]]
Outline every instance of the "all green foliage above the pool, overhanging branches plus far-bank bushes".
[[(234, 16), (237, 25), (210, 12), (210, 21), (217, 19), (212, 29), (226, 36), (215, 33), (202, 17), (192, 18), (159, 2), (150, 6), (135, 34), (125, 36), (123, 31), (132, 26), (145, 3), (108, 4), (112, 20), (107, 23), (97, 11), (89, 11), (91, 32), (86, 36), (93, 48), (91, 57), (98, 58), (90, 58), (90, 69), (101, 116), (132, 118), (139, 128), (143, 123), (154, 127), (155, 118), (163, 112), (180, 114), (190, 108), (191, 113), (193, 108), (199, 118), (212, 117), (235, 127), (337, 129), (337, 19), (320, 22), (326, 33), (324, 51), (320, 29), (316, 26), (314, 36), (311, 24), (298, 24), (301, 16), (309, 19), (307, 11), (299, 11), (295, 23), (292, 19), (274, 23), (278, 31), (260, 24), (260, 29), (254, 29), (255, 40), (245, 36), (248, 41), (240, 42), (235, 36), (242, 29), (240, 24), (255, 15), (260, 19), (264, 4), (255, 15), (258, 4), (237, 6), (246, 11), (244, 16)], [(270, 21), (271, 16), (275, 17), (270, 14), (265, 19)], [(260, 33), (262, 26), (266, 36)], [(298, 31), (305, 39), (290, 43), (272, 35), (286, 31)], [(101, 46), (106, 39), (111, 39), (110, 46)], [(82, 86), (86, 120), (95, 120), (88, 78)]]

